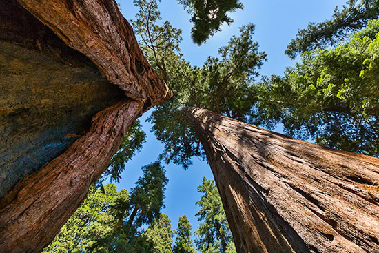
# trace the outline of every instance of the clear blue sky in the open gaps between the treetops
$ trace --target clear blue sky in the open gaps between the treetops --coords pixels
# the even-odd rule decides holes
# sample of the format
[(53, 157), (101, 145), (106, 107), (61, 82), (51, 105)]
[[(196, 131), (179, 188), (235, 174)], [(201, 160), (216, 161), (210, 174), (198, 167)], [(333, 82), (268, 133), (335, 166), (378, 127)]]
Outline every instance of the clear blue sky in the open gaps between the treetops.
[[(262, 75), (282, 74), (285, 67), (294, 65), (285, 54), (285, 49), (291, 39), (296, 36), (298, 29), (306, 28), (309, 22), (320, 22), (329, 19), (336, 6), (342, 6), (346, 0), (242, 0), (244, 9), (232, 13), (234, 19), (231, 26), (223, 26), (222, 32), (209, 39), (207, 43), (195, 45), (190, 38), (192, 24), (189, 23), (189, 15), (179, 6), (176, 0), (163, 0), (159, 4), (162, 20), (170, 20), (172, 25), (183, 30), (183, 41), (181, 52), (185, 59), (192, 65), (203, 65), (208, 56), (217, 56), (218, 48), (226, 45), (229, 38), (238, 34), (238, 28), (247, 23), (254, 23), (256, 26), (254, 40), (258, 41), (260, 50), (268, 54), (268, 61), (261, 68)], [(136, 8), (132, 0), (118, 0), (121, 4), (121, 11), (126, 19), (134, 18)], [(154, 134), (150, 132), (151, 125), (145, 122), (150, 112), (143, 114), (140, 121), (143, 123), (143, 130), (147, 134), (147, 141), (143, 149), (136, 154), (132, 161), (126, 165), (126, 170), (122, 174), (122, 179), (117, 184), (118, 190), (130, 190), (134, 182), (141, 176), (141, 167), (152, 163), (163, 151), (163, 145), (156, 140)], [(280, 132), (280, 129), (278, 129)], [(195, 202), (201, 198), (196, 188), (205, 176), (213, 179), (212, 172), (206, 161), (193, 159), (193, 165), (188, 170), (170, 164), (165, 165), (166, 176), (169, 179), (167, 190), (165, 191), (165, 209), (172, 221), (172, 228), (176, 228), (178, 217), (186, 214), (192, 224), (192, 232), (198, 226), (197, 217), (198, 206)]]

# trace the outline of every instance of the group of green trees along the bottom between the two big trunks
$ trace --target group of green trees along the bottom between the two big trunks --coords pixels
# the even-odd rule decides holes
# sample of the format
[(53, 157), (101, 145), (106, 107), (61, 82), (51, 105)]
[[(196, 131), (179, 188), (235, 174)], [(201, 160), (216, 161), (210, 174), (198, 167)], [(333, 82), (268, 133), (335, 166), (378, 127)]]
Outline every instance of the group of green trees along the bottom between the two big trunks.
[[(180, 217), (173, 231), (169, 217), (161, 213), (167, 182), (163, 168), (152, 163), (142, 169), (144, 174), (131, 194), (117, 192), (112, 183), (97, 189), (92, 185), (85, 201), (44, 252), (196, 252), (187, 216)], [(236, 252), (214, 181), (203, 179), (198, 191), (203, 196), (196, 202), (201, 208), (196, 216), (202, 221), (194, 234), (197, 250)]]

